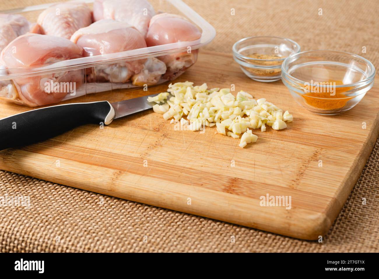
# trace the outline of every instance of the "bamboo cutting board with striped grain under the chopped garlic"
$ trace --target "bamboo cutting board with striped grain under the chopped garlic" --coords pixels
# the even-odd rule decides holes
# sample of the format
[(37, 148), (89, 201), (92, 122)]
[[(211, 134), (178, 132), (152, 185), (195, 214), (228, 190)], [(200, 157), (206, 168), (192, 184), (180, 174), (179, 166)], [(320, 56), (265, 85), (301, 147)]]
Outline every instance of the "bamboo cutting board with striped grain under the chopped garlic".
[[(378, 83), (352, 110), (335, 116), (310, 113), (281, 81), (255, 82), (231, 55), (200, 52), (176, 82), (244, 90), (289, 110), (285, 130), (255, 130), (258, 141), (174, 129), (152, 110), (78, 127), (21, 149), (0, 152), (0, 168), (71, 187), (121, 197), (315, 240), (333, 223), (356, 183), (378, 136)], [(75, 102), (110, 102), (166, 91), (149, 88), (90, 94)], [(73, 102), (71, 100), (71, 102)], [(0, 103), (0, 117), (28, 108)], [(365, 122), (366, 129), (362, 128)], [(49, 127), (46, 127), (49, 129)], [(261, 206), (261, 196), (291, 197), (291, 208)], [(33, 197), (31, 197), (32, 201)]]

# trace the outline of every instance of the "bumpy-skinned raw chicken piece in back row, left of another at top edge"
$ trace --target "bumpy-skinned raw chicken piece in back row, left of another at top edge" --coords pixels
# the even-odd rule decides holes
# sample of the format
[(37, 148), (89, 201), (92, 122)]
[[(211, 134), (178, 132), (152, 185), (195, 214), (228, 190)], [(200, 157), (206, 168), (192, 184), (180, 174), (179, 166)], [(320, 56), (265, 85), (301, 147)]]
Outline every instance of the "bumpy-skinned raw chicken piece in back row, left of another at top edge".
[(91, 10), (85, 3), (65, 2), (45, 9), (30, 32), (70, 39), (75, 31), (91, 23)]

